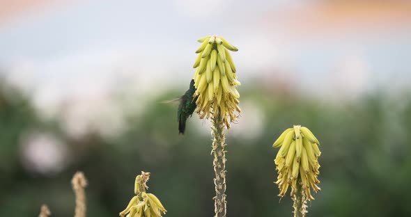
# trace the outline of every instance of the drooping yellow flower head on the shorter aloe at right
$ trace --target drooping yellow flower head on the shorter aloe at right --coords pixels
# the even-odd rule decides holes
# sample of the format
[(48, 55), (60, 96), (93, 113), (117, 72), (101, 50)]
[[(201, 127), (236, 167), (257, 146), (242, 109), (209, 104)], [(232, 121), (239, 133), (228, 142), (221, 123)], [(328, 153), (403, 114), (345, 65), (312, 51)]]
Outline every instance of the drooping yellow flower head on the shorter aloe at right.
[(321, 154), (318, 145), (320, 143), (316, 136), (307, 127), (300, 125), (286, 129), (274, 142), (272, 147), (280, 147), (274, 162), (279, 173), (275, 184), (279, 186), (281, 198), (288, 186), (291, 186), (293, 196), (297, 193), (297, 184), (301, 184), (305, 198), (314, 200), (310, 186), (316, 193), (320, 191), (317, 186), (320, 183), (317, 178), (320, 174), (318, 156)]

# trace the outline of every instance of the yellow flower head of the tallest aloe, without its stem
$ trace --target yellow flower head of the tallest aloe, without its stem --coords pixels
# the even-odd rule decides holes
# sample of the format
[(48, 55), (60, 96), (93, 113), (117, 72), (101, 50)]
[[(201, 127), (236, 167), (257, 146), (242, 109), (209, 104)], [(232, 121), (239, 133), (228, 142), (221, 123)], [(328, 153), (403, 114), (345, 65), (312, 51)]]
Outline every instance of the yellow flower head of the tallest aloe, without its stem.
[(202, 44), (196, 51), (199, 55), (194, 63), (197, 113), (200, 118), (212, 115), (217, 118), (220, 115), (226, 127), (230, 128), (230, 122), (238, 118), (235, 111), (240, 113), (241, 110), (238, 107), (240, 94), (235, 89), (240, 86), (240, 81), (228, 50), (238, 49), (221, 36), (206, 36), (199, 42)]

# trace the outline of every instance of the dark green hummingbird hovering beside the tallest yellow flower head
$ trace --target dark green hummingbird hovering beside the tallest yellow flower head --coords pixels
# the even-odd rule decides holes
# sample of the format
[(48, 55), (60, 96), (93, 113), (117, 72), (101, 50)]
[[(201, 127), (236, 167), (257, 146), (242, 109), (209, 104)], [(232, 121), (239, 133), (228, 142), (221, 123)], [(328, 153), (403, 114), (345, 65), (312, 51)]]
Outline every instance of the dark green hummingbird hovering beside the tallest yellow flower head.
[(179, 98), (180, 105), (177, 111), (178, 120), (178, 132), (179, 134), (184, 134), (185, 122), (187, 118), (191, 117), (196, 110), (196, 100), (198, 97), (194, 97), (196, 88), (194, 87), (194, 79), (189, 83), (189, 88), (185, 91), (184, 95)]

